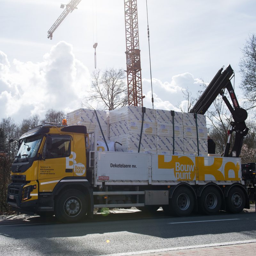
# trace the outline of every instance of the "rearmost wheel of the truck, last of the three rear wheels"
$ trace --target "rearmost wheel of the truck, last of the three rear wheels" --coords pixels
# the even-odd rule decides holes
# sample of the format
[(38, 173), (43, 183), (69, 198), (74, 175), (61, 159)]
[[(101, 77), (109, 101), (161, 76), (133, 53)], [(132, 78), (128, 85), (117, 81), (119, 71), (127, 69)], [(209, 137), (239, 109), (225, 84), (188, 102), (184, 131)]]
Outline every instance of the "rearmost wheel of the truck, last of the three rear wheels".
[(229, 212), (238, 213), (244, 209), (245, 196), (241, 188), (230, 188), (226, 199)]

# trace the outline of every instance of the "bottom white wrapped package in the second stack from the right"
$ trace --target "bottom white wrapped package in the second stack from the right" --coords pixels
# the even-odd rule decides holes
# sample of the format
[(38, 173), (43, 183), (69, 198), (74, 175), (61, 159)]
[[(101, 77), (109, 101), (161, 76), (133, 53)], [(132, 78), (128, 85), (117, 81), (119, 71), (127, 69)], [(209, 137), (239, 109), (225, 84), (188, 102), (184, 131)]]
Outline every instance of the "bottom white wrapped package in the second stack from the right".
[[(159, 136), (157, 135), (157, 150), (173, 150), (173, 137)], [(183, 137), (174, 137), (174, 150), (175, 151), (183, 151), (184, 150), (184, 142)]]

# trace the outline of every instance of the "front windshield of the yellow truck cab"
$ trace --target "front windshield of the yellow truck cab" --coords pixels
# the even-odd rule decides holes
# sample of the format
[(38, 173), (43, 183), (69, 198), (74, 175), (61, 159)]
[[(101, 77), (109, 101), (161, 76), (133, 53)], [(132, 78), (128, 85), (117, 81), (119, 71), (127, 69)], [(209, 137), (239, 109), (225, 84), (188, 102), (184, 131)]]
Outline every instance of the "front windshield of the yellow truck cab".
[(39, 148), (42, 138), (43, 135), (25, 138), (20, 145), (20, 149), (17, 154), (17, 159), (26, 159), (26, 157), (31, 158), (36, 156), (36, 152)]

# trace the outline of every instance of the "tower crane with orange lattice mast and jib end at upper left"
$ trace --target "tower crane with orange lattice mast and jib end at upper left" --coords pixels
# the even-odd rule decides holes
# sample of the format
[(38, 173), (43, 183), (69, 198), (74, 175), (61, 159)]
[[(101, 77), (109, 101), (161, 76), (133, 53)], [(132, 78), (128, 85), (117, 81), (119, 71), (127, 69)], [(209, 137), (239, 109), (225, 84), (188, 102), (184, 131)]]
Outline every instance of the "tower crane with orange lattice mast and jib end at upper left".
[[(48, 31), (48, 38), (52, 40), (53, 32), (58, 28), (60, 23), (67, 15), (77, 9), (81, 0), (71, 0), (66, 4), (65, 10), (60, 17), (54, 22)], [(60, 8), (65, 5), (61, 4)], [(141, 84), (141, 65), (139, 49), (139, 30), (138, 30), (138, 12), (137, 0), (124, 0), (125, 16), (125, 35), (126, 35), (126, 72), (128, 84), (128, 105), (143, 107), (142, 84)]]

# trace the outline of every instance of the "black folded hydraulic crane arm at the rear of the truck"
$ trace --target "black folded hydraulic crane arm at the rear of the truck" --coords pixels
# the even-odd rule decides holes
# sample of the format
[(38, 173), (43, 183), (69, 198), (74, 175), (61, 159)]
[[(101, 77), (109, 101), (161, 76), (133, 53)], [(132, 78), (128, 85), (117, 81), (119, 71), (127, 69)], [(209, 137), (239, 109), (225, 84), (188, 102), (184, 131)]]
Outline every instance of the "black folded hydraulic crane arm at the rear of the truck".
[[(244, 122), (247, 118), (247, 111), (239, 106), (236, 94), (230, 82), (230, 79), (234, 76), (234, 70), (230, 65), (228, 65), (228, 67), (222, 72), (223, 67), (220, 68), (212, 79), (211, 83), (207, 86), (201, 97), (197, 100), (196, 104), (189, 112), (204, 115), (208, 108), (212, 105), (213, 101), (217, 98), (218, 94), (220, 94), (234, 119), (234, 121), (230, 122), (232, 128), (228, 134), (229, 138), (228, 142), (226, 143), (224, 156), (239, 157), (241, 148), (243, 146), (244, 136), (246, 136), (249, 130)], [(224, 90), (226, 88), (230, 95), (233, 106), (224, 95)], [(229, 153), (229, 141), (232, 132), (236, 132), (236, 136), (231, 153)]]

